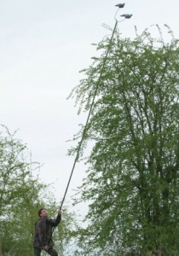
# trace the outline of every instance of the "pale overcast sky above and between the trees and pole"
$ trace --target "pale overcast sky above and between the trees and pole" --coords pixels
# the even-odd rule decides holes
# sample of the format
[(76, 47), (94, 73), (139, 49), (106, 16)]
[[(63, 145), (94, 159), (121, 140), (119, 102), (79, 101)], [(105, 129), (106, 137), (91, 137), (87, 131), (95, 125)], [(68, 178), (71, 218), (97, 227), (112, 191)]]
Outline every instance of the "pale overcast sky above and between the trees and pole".
[[(44, 164), (40, 177), (55, 183), (57, 201), (63, 196), (73, 164), (66, 155), (78, 124), (73, 100), (66, 100), (83, 78), (95, 55), (92, 43), (109, 35), (102, 24), (113, 27), (115, 4), (125, 3), (121, 14), (133, 14), (118, 23), (124, 37), (145, 28), (157, 31), (164, 24), (179, 38), (178, 0), (0, 0), (0, 124), (23, 140), (32, 160)], [(68, 195), (81, 184), (86, 166), (77, 164)]]

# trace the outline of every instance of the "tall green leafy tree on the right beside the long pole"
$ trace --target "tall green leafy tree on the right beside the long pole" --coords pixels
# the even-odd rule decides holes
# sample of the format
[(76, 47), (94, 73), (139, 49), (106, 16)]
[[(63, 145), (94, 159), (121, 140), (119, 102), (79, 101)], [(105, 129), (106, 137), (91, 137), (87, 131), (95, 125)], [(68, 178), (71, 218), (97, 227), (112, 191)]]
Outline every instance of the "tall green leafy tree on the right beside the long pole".
[(81, 241), (85, 240), (82, 248), (85, 255), (126, 251), (147, 255), (152, 250), (176, 255), (178, 40), (165, 43), (147, 30), (134, 40), (115, 32), (105, 59), (109, 41), (105, 38), (97, 44), (101, 56), (93, 58), (83, 71), (85, 78), (72, 91), (80, 113), (83, 107), (89, 111), (99, 86), (81, 149), (83, 153), (86, 143), (93, 142), (87, 178), (79, 188), (79, 201), (90, 201), (85, 218), (90, 224), (79, 231)]

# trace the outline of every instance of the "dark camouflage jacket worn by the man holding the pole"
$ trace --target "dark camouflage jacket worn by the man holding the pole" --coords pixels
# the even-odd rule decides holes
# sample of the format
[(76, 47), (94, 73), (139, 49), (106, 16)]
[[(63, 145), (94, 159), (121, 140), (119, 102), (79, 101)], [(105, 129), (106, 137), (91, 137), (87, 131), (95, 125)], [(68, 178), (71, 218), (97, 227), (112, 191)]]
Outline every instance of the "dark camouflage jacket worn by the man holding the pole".
[(43, 248), (49, 246), (52, 248), (54, 242), (52, 241), (52, 229), (61, 222), (61, 215), (56, 219), (39, 218), (35, 224), (35, 236), (33, 247)]

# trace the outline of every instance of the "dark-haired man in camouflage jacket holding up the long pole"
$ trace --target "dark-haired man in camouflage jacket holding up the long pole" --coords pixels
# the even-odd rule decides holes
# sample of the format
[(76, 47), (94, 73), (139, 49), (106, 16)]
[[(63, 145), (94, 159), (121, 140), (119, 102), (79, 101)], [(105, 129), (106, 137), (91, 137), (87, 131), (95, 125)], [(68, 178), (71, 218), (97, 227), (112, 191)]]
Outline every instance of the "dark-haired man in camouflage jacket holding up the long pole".
[(51, 256), (58, 256), (52, 241), (52, 230), (61, 222), (61, 211), (58, 212), (56, 219), (48, 218), (48, 212), (41, 208), (38, 211), (40, 217), (35, 224), (35, 236), (33, 241), (34, 256), (40, 256), (41, 250), (44, 250)]

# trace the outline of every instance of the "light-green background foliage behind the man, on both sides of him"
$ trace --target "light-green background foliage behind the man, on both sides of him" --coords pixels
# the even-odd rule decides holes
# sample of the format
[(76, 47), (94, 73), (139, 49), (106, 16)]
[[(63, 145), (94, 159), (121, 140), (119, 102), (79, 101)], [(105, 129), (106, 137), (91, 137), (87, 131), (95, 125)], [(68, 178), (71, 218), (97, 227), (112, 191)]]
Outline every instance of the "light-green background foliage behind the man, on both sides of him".
[[(26, 145), (14, 136), (8, 129), (0, 136), (0, 255), (32, 256), (38, 209), (45, 207), (49, 217), (56, 218), (59, 204), (49, 186), (34, 175), (39, 164), (32, 162)], [(75, 214), (71, 216), (66, 208), (54, 234), (61, 256), (70, 247), (75, 224)]]

